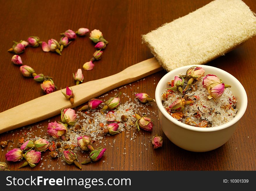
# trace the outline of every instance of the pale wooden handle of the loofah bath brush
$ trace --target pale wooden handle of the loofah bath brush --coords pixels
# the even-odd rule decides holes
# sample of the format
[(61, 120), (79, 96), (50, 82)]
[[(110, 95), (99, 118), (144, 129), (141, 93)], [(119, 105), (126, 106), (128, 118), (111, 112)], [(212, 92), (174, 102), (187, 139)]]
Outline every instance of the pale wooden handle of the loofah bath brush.
[[(125, 70), (98, 80), (72, 86), (75, 93), (74, 105), (71, 105), (61, 90), (38, 97), (0, 113), (0, 133), (35, 123), (61, 113), (63, 108), (74, 108), (92, 98), (119, 86), (131, 83), (163, 68), (157, 59), (150, 58), (129, 66)], [(66, 92), (66, 89), (62, 90)]]

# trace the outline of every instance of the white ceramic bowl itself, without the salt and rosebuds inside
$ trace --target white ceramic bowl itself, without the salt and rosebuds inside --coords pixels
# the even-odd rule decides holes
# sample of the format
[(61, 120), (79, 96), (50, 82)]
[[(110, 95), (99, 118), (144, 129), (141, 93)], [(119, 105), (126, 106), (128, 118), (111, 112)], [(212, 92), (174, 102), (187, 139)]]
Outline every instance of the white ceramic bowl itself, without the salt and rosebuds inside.
[(200, 67), (205, 69), (205, 75), (214, 74), (220, 79), (223, 79), (223, 83), (232, 86), (230, 90), (237, 99), (237, 115), (234, 119), (223, 125), (210, 128), (193, 127), (177, 121), (163, 107), (161, 95), (166, 90), (168, 81), (174, 79), (175, 75), (185, 74), (187, 69), (192, 66), (194, 65), (183, 66), (164, 75), (157, 84), (155, 98), (160, 125), (168, 139), (183, 149), (194, 152), (205, 152), (220, 147), (230, 139), (237, 128), (239, 119), (241, 119), (246, 110), (247, 95), (242, 84), (234, 76), (219, 68), (202, 65)]

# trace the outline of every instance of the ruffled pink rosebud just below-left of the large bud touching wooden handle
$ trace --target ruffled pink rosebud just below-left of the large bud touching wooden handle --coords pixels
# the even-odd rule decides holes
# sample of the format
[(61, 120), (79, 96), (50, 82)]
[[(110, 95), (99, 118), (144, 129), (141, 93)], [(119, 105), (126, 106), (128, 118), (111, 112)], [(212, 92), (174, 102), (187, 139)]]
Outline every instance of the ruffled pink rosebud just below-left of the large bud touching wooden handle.
[(55, 139), (60, 138), (67, 132), (67, 127), (62, 123), (57, 123), (56, 121), (49, 123), (47, 129), (47, 133)]

